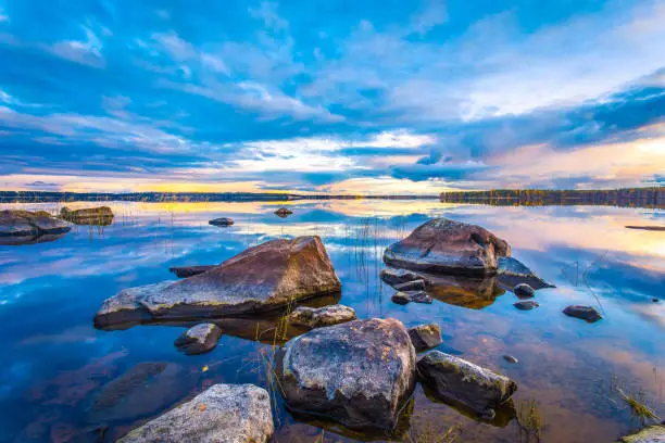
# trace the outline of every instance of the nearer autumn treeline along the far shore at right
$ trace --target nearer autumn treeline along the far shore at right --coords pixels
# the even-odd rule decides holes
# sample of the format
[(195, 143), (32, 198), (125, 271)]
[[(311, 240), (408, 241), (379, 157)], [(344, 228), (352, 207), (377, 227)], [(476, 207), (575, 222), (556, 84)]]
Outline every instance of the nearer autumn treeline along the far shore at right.
[(440, 200), (450, 203), (476, 203), (497, 206), (603, 205), (664, 208), (665, 188), (449, 191), (441, 192)]

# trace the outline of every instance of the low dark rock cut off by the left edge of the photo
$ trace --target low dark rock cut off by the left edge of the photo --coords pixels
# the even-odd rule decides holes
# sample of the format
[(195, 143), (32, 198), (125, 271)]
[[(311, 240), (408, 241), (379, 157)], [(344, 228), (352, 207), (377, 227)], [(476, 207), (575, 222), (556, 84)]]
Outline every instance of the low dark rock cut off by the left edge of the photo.
[(61, 235), (70, 230), (72, 225), (45, 211), (0, 211), (0, 239), (20, 238), (22, 241), (34, 241), (40, 236)]

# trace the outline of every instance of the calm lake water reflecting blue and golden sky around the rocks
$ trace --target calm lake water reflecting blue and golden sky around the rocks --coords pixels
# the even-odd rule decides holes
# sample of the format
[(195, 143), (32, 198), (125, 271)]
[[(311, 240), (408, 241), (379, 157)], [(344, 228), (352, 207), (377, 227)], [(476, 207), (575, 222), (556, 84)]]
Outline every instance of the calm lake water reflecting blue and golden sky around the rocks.
[[(250, 245), (301, 235), (322, 237), (343, 284), (340, 302), (360, 318), (435, 321), (443, 332), (441, 351), (516, 380), (516, 408), (536, 403), (542, 441), (607, 442), (636, 429), (616, 385), (642, 393), (665, 418), (665, 300), (652, 301), (665, 299), (665, 233), (624, 228), (662, 225), (665, 212), (330, 201), (290, 204), (294, 214), (283, 219), (273, 214), (280, 205), (117, 203), (113, 225), (103, 229), (77, 227), (52, 242), (0, 246), (0, 442), (96, 441), (100, 426), (108, 427), (104, 441), (113, 441), (210, 384), (267, 388), (264, 362), (275, 327), (268, 319), (226, 321), (217, 349), (185, 356), (173, 346), (183, 327), (99, 331), (92, 316), (124, 288), (172, 279), (170, 266), (215, 264)], [(57, 208), (2, 208), (17, 206)], [(221, 216), (236, 225), (208, 225)], [(393, 304), (391, 289), (378, 279), (384, 248), (439, 216), (492, 230), (557, 288), (539, 291), (540, 308), (531, 312), (513, 307), (511, 292), (491, 290), (440, 294), (431, 305)], [(574, 303), (591, 304), (605, 318), (588, 325), (564, 316)], [(519, 363), (504, 362), (504, 354)], [(134, 376), (109, 385), (130, 370)], [(279, 395), (274, 407), (277, 442), (321, 442), (322, 434), (326, 442), (368, 439), (300, 421)], [(460, 441), (528, 441), (510, 414), (478, 422), (429, 400), (421, 387), (409, 410), (399, 435), (404, 440), (428, 441), (424, 434), (453, 427)]]

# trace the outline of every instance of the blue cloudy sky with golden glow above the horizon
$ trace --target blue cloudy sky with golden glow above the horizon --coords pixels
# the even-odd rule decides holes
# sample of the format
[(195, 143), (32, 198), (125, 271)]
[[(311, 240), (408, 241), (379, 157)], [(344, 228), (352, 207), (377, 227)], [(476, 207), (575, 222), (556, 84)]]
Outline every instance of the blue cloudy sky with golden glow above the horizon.
[(0, 0), (0, 190), (665, 183), (665, 0)]

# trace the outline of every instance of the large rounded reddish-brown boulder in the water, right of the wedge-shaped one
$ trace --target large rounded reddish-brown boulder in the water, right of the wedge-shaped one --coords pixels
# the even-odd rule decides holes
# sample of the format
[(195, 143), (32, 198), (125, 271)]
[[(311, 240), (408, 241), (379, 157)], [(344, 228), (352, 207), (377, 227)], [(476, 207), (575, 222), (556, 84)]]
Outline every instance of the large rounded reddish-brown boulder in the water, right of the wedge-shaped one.
[(447, 218), (421, 225), (384, 253), (387, 265), (442, 274), (492, 275), (511, 246), (485, 228)]

